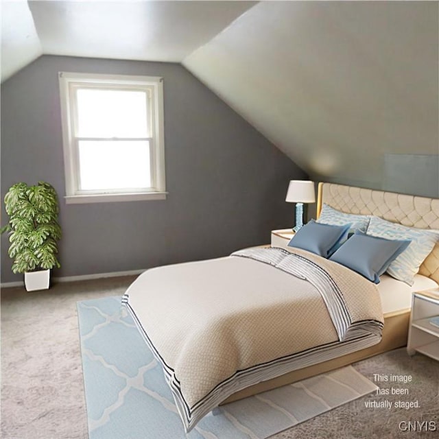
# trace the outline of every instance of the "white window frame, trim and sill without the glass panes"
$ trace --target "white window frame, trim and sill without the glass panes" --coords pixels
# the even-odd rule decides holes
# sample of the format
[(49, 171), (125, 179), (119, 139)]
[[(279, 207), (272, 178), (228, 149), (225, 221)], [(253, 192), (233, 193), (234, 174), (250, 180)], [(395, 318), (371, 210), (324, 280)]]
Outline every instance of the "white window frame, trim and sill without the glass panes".
[[(62, 143), (67, 204), (165, 200), (165, 130), (163, 121), (163, 78), (156, 76), (101, 75), (95, 73), (58, 73), (62, 117)], [(79, 187), (78, 136), (75, 131), (77, 106), (75, 89), (97, 87), (116, 90), (147, 91), (150, 101), (150, 141), (152, 187), (138, 191), (82, 191)], [(112, 140), (112, 139), (108, 139)]]

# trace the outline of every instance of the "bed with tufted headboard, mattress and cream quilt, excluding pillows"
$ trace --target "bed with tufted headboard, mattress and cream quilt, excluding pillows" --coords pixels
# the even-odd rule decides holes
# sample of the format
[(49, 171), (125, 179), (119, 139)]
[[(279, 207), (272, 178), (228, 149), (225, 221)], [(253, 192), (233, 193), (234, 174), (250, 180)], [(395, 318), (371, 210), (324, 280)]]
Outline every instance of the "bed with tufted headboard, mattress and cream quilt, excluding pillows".
[[(318, 221), (327, 209), (439, 229), (430, 198), (321, 183)], [(404, 346), (412, 291), (438, 286), (439, 245), (430, 250), (413, 285), (383, 274), (377, 287), (301, 248), (244, 249), (147, 270), (123, 303), (189, 431), (220, 403)]]

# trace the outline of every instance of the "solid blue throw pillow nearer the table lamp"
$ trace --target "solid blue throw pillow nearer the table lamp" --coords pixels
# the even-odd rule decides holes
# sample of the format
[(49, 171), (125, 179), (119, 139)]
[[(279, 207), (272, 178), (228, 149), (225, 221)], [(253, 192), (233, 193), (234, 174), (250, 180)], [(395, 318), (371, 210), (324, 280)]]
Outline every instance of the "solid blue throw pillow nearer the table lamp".
[(288, 246), (301, 248), (327, 258), (335, 252), (340, 242), (346, 239), (350, 228), (351, 224), (331, 226), (329, 224), (320, 224), (311, 219), (296, 232), (296, 235), (289, 241)]

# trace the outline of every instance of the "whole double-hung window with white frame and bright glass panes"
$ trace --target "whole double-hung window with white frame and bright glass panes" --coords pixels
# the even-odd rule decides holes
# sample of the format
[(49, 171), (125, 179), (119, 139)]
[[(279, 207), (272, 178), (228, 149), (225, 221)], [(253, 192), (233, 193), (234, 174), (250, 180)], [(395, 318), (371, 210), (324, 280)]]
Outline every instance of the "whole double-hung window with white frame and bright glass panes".
[(67, 203), (165, 199), (162, 78), (59, 79)]

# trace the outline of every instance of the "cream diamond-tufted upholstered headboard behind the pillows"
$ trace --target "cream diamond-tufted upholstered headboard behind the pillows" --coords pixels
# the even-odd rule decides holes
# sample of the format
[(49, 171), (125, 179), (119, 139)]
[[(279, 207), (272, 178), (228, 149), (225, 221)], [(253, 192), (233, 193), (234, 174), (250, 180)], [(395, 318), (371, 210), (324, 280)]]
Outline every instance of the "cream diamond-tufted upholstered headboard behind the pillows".
[[(439, 230), (438, 198), (320, 182), (317, 217), (323, 203), (345, 213), (375, 215), (404, 226)], [(439, 283), (439, 244), (420, 266), (419, 273)]]

